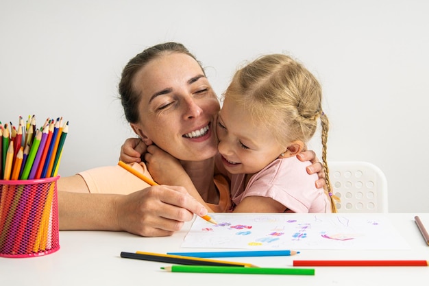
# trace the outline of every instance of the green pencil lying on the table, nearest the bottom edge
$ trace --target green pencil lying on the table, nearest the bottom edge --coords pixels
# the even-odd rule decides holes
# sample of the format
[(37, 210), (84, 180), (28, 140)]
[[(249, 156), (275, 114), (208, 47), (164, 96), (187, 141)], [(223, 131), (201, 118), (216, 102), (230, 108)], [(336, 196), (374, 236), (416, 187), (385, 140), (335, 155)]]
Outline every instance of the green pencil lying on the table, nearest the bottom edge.
[(232, 274), (281, 274), (281, 275), (315, 275), (314, 268), (264, 268), (264, 267), (235, 267), (235, 266), (201, 266), (173, 265), (161, 267), (169, 272), (194, 273), (232, 273)]

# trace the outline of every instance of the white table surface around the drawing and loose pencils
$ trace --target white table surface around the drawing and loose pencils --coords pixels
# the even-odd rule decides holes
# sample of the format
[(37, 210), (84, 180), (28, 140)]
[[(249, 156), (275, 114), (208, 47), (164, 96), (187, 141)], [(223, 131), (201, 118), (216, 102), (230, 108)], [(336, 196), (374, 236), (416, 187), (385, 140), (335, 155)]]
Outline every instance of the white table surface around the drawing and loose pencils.
[[(232, 214), (234, 215), (234, 214)], [(291, 214), (293, 215), (293, 214)], [(429, 260), (414, 217), (429, 228), (429, 213), (388, 213), (409, 250), (302, 250), (294, 257), (243, 257), (221, 260), (249, 262), (264, 267), (292, 267), (293, 259), (410, 259)], [(429, 267), (311, 267), (315, 276), (258, 274), (187, 274), (164, 272), (169, 265), (123, 259), (125, 252), (215, 251), (181, 248), (191, 223), (171, 237), (138, 237), (104, 231), (60, 231), (60, 250), (42, 257), (0, 257), (0, 285), (406, 285), (428, 281)], [(418, 282), (420, 281), (420, 282)], [(282, 283), (282, 284), (280, 284)], [(292, 284), (290, 284), (292, 283)], [(424, 282), (421, 285), (424, 285)]]

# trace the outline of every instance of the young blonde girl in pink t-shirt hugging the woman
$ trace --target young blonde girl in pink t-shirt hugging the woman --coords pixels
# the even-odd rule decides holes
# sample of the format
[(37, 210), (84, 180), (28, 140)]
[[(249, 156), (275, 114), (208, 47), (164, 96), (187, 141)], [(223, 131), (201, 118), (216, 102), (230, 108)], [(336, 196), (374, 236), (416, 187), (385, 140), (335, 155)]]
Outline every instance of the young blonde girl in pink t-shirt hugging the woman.
[[(326, 163), (328, 117), (321, 102), (319, 82), (289, 56), (262, 56), (236, 72), (217, 119), (216, 166), (230, 178), (231, 211), (336, 212)], [(306, 149), (318, 121), (327, 191), (315, 187), (317, 174), (308, 175), (311, 163), (296, 156)], [(121, 160), (131, 156), (132, 147), (125, 141)], [(145, 160), (158, 183), (184, 186), (198, 196), (175, 158), (151, 145)]]

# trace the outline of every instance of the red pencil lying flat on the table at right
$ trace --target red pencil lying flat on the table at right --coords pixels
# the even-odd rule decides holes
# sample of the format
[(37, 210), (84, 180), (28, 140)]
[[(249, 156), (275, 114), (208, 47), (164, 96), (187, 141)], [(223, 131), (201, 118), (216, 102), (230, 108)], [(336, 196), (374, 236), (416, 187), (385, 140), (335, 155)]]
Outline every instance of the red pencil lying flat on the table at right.
[(293, 266), (428, 266), (426, 260), (294, 260)]

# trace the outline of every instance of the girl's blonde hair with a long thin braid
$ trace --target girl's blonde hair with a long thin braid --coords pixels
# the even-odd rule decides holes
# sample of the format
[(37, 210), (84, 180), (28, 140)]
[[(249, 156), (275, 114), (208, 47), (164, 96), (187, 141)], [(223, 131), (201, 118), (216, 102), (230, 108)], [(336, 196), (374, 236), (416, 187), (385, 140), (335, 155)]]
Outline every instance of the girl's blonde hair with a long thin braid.
[(336, 213), (326, 160), (329, 121), (314, 75), (284, 54), (262, 56), (235, 73), (224, 96), (247, 108), (253, 120), (263, 122), (284, 146), (296, 140), (308, 143), (320, 119), (323, 172), (332, 212)]

